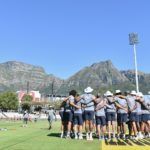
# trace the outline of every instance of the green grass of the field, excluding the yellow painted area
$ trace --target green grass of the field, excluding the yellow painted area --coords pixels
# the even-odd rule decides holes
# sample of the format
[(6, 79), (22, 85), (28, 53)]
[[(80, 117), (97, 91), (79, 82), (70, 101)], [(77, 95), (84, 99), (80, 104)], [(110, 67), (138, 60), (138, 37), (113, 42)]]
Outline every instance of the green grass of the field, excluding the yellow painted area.
[(27, 128), (22, 122), (0, 121), (0, 150), (100, 150), (101, 142), (59, 138), (59, 122), (54, 122), (48, 130), (47, 121), (29, 123)]

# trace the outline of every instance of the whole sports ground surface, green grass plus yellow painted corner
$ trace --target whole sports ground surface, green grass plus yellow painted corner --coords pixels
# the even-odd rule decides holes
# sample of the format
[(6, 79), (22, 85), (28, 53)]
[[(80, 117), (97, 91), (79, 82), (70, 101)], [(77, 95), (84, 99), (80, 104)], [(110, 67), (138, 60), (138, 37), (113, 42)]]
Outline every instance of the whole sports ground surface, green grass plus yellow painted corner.
[(86, 141), (61, 139), (60, 122), (54, 122), (48, 130), (47, 121), (29, 123), (22, 127), (22, 121), (0, 121), (0, 150), (150, 150), (150, 138), (143, 140)]

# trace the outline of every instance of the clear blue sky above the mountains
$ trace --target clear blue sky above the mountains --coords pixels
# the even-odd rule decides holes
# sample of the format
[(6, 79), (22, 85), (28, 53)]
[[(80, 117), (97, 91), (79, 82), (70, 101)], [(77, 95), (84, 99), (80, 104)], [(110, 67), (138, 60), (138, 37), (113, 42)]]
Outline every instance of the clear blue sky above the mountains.
[(149, 0), (1, 0), (0, 63), (21, 61), (68, 78), (111, 59), (134, 69), (128, 34), (137, 32), (138, 69), (150, 73)]

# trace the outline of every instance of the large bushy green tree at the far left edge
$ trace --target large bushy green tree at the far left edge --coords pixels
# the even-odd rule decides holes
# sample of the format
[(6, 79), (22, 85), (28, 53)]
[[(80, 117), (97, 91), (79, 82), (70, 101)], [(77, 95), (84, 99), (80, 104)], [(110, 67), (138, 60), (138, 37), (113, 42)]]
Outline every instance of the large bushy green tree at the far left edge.
[(14, 92), (4, 92), (0, 94), (0, 108), (2, 110), (17, 110), (18, 98)]

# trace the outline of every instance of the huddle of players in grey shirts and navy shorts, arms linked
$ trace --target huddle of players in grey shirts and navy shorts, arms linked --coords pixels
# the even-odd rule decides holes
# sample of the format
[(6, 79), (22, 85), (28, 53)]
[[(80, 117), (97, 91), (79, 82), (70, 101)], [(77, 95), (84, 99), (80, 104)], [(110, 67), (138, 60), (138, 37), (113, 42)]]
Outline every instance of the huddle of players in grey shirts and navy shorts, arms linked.
[[(150, 137), (150, 93), (115, 93), (107, 91), (103, 96), (92, 94), (87, 87), (83, 95), (75, 90), (61, 104), (61, 137), (93, 140), (96, 132), (99, 140), (114, 138), (143, 139)], [(127, 130), (128, 127), (128, 130)], [(127, 134), (128, 133), (128, 134)]]

